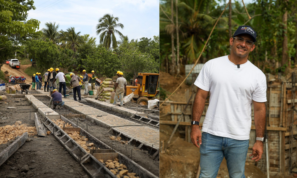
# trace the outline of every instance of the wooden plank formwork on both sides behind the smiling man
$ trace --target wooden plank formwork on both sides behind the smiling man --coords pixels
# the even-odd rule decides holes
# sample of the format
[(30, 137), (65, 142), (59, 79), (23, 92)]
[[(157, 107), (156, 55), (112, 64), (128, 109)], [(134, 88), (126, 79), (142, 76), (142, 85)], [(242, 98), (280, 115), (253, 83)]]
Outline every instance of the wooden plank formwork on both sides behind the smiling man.
[[(292, 83), (287, 81), (281, 81), (278, 79), (272, 79), (268, 81), (267, 85), (267, 102), (266, 102), (266, 122), (267, 122), (267, 135), (268, 135), (268, 155), (269, 155), (269, 172), (270, 175), (287, 175), (290, 173), (290, 160), (289, 160), (289, 136), (290, 136), (290, 123), (292, 117), (292, 97), (291, 97)], [(295, 92), (297, 96), (297, 92)], [(161, 101), (162, 102), (162, 101)], [(297, 98), (294, 100), (297, 104)], [(186, 102), (166, 102), (170, 104), (171, 111), (168, 114), (171, 115), (171, 120), (162, 120), (160, 117), (160, 124), (175, 125), (178, 118), (181, 117), (181, 113), (186, 106)], [(200, 125), (203, 126), (203, 120), (208, 108), (208, 103), (204, 108)], [(192, 103), (185, 112), (185, 118), (181, 120), (179, 124), (179, 130), (184, 135), (185, 140), (191, 142), (190, 139), (190, 121), (192, 120)], [(297, 125), (297, 113), (294, 114), (294, 122)], [(162, 129), (162, 127), (160, 127)], [(294, 132), (294, 134), (297, 134)], [(262, 159), (255, 163), (251, 160), (249, 154), (252, 153), (252, 147), (256, 141), (256, 131), (254, 122), (254, 111), (252, 107), (252, 126), (249, 139), (249, 149), (246, 161), (255, 164), (259, 169), (266, 173), (266, 148), (264, 144), (264, 153)], [(297, 160), (297, 149), (293, 147), (292, 157)]]

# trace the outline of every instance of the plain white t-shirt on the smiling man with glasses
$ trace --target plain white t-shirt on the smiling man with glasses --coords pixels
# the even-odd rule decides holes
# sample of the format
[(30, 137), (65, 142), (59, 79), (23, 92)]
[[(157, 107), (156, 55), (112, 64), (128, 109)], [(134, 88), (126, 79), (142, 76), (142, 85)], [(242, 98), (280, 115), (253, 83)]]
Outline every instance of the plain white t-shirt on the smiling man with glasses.
[(248, 140), (252, 125), (252, 100), (267, 101), (265, 74), (250, 61), (237, 68), (226, 55), (206, 62), (194, 84), (210, 91), (202, 131)]

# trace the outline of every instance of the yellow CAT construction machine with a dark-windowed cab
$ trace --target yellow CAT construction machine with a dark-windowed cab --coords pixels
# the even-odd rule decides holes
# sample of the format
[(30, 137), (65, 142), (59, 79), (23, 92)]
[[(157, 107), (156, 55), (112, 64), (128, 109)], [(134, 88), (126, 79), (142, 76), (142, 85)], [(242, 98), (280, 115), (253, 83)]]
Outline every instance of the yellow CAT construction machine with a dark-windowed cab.
[[(126, 86), (126, 96), (134, 93), (133, 99), (137, 104), (148, 105), (149, 99), (159, 94), (159, 74), (138, 73), (138, 81), (133, 80)], [(135, 86), (133, 86), (133, 83)]]

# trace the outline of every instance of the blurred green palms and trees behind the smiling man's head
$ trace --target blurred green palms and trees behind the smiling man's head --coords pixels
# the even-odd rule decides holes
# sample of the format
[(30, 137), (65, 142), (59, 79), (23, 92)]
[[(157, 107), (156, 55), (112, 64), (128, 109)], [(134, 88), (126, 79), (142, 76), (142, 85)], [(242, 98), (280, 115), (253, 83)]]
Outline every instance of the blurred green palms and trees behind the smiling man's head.
[[(221, 5), (219, 5), (219, 2)], [(196, 61), (228, 1), (160, 1), (161, 70), (176, 76), (184, 64)], [(295, 1), (261, 0), (245, 4), (231, 1), (218, 21), (199, 63), (228, 55), (229, 39), (239, 26), (257, 33), (249, 60), (263, 72), (285, 72), (297, 64), (297, 4)], [(230, 22), (230, 23), (229, 23)]]

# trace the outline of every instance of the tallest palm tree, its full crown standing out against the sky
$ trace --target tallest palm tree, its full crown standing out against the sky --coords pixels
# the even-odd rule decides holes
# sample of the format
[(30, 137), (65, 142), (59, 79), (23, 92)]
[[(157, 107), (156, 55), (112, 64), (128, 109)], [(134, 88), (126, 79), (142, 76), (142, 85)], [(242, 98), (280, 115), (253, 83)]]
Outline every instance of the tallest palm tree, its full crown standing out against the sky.
[(117, 23), (119, 21), (118, 17), (113, 17), (111, 14), (105, 14), (102, 18), (98, 20), (98, 24), (96, 26), (97, 28), (97, 35), (100, 33), (100, 43), (103, 44), (105, 48), (110, 49), (112, 46), (113, 49), (115, 49), (118, 45), (116, 42), (116, 34), (119, 34), (119, 36), (123, 36), (123, 34), (116, 30), (115, 28), (120, 27), (121, 29), (124, 28), (124, 25), (121, 23)]

